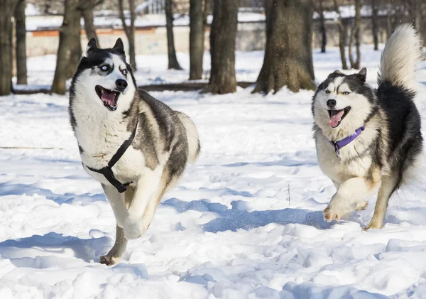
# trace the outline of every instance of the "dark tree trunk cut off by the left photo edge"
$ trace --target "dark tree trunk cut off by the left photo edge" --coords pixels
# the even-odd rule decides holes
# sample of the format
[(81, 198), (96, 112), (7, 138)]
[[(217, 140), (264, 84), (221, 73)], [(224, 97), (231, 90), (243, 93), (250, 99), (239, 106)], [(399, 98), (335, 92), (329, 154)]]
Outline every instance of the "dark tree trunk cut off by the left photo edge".
[(0, 96), (12, 91), (12, 22), (17, 0), (0, 1)]

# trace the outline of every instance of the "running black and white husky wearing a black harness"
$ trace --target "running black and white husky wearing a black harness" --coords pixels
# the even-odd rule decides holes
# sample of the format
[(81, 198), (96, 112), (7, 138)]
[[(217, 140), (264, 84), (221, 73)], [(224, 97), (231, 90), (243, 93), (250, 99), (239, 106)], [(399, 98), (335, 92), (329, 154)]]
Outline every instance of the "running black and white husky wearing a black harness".
[(72, 78), (70, 121), (84, 170), (102, 184), (116, 217), (116, 241), (101, 263), (119, 261), (140, 237), (164, 192), (200, 152), (197, 129), (180, 112), (136, 87), (121, 39), (94, 38)]

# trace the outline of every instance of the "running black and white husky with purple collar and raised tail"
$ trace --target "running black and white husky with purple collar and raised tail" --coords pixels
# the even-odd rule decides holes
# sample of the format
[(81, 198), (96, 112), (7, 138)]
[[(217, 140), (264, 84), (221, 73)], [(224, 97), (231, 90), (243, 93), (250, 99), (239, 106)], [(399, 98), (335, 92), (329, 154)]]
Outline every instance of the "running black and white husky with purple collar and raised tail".
[(400, 26), (383, 50), (377, 89), (366, 84), (364, 68), (354, 75), (333, 72), (315, 92), (318, 163), (337, 187), (324, 210), (327, 221), (363, 210), (369, 193), (378, 187), (366, 229), (382, 228), (389, 198), (420, 158), (420, 114), (412, 89), (420, 46), (415, 30)]

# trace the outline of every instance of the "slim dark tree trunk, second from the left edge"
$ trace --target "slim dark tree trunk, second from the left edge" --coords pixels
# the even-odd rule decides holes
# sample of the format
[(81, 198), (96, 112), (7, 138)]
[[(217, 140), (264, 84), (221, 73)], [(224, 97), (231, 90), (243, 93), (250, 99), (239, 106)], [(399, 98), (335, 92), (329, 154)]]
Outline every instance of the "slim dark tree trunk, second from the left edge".
[(25, 7), (26, 0), (19, 0), (15, 9), (16, 82), (18, 84), (27, 84)]

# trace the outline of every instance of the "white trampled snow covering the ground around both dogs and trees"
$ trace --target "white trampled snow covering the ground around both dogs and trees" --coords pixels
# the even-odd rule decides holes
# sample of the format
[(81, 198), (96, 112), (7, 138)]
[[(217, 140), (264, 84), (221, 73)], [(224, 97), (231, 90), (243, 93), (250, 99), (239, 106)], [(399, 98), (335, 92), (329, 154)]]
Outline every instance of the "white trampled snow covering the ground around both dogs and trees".
[[(256, 79), (262, 55), (237, 53), (239, 80)], [(363, 48), (372, 85), (379, 55)], [(138, 62), (141, 85), (187, 77), (165, 71), (165, 57)], [(31, 84), (49, 85), (54, 64), (31, 58)], [(337, 49), (315, 50), (317, 82), (338, 68)], [(312, 92), (250, 92), (152, 93), (194, 119), (202, 155), (113, 267), (97, 261), (114, 215), (80, 164), (67, 97), (0, 97), (0, 298), (426, 298), (424, 180), (393, 197), (381, 230), (362, 229), (373, 198), (324, 222), (334, 187), (317, 165)]]

